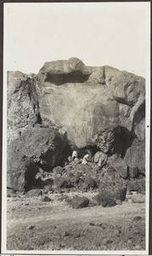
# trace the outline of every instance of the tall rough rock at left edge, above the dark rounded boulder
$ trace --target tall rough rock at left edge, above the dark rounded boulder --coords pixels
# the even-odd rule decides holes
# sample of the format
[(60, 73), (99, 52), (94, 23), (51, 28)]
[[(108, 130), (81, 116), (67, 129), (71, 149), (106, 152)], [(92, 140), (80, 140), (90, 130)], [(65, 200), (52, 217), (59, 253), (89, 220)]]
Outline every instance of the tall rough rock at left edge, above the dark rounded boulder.
[(26, 127), (41, 124), (37, 86), (34, 79), (20, 72), (8, 72), (8, 143)]

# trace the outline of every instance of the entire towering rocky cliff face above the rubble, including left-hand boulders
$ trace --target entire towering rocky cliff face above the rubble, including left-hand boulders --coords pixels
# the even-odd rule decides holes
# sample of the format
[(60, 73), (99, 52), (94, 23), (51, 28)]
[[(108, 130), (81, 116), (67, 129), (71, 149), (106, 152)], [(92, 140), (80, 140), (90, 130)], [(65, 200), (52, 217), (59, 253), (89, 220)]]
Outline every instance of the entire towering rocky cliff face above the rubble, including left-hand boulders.
[(75, 147), (143, 173), (144, 116), (145, 79), (132, 73), (76, 58), (46, 62), (37, 75), (8, 72), (8, 152), (48, 171)]

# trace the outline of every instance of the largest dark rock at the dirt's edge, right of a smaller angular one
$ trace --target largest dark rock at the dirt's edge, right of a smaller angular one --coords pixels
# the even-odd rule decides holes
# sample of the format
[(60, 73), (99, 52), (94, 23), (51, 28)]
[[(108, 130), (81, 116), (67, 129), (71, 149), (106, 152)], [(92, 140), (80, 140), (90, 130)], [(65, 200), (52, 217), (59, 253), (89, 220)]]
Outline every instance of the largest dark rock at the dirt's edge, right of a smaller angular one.
[(97, 196), (97, 202), (103, 207), (115, 207), (116, 201), (124, 201), (126, 198), (126, 187), (113, 185), (109, 188), (101, 189)]

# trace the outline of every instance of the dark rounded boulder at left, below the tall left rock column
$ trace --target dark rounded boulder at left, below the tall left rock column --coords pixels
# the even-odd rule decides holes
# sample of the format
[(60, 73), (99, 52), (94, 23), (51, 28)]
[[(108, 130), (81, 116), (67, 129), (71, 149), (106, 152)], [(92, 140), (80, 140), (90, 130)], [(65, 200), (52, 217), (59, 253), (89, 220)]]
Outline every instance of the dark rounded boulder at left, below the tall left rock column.
[(69, 154), (67, 145), (66, 133), (61, 134), (52, 128), (31, 127), (9, 143), (8, 151), (9, 155), (25, 154), (43, 170), (51, 171), (54, 166), (64, 163)]

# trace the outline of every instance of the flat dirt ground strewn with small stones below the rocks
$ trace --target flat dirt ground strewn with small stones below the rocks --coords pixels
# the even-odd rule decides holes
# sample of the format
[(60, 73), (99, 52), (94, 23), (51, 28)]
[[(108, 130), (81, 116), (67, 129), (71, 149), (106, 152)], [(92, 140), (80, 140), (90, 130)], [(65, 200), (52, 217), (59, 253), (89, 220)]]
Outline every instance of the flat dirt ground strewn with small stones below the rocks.
[[(68, 193), (74, 195), (92, 200), (95, 193)], [(144, 195), (136, 195), (136, 203), (130, 198), (115, 207), (82, 209), (59, 194), (49, 197), (8, 198), (8, 250), (145, 250)]]

